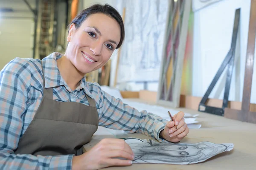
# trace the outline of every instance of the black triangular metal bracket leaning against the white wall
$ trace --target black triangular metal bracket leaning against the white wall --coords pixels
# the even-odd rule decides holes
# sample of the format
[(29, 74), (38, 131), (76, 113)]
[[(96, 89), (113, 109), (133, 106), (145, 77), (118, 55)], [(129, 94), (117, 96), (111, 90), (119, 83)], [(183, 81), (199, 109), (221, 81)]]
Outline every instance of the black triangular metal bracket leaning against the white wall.
[[(211, 84), (209, 85), (209, 88), (207, 89), (206, 93), (204, 94), (204, 97), (201, 99), (201, 102), (198, 107), (198, 111), (206, 112), (206, 113), (212, 113), (219, 116), (224, 116), (224, 109), (227, 108), (228, 104), (228, 96), (230, 91), (230, 83), (231, 83), (231, 77), (233, 72), (233, 65), (234, 65), (234, 55), (235, 55), (235, 49), (236, 49), (236, 40), (238, 35), (238, 28), (239, 28), (239, 20), (240, 20), (240, 8), (236, 9), (235, 13), (235, 20), (234, 20), (234, 26), (233, 26), (233, 34), (232, 34), (232, 40), (231, 40), (231, 47), (229, 52), (227, 53), (227, 56), (223, 60), (220, 68), (218, 69), (215, 77), (213, 78)], [(212, 92), (212, 89), (216, 85), (218, 79), (220, 78), (221, 74), (223, 73), (224, 69), (227, 68), (227, 78), (226, 78), (226, 84), (225, 84), (225, 91), (224, 91), (224, 99), (222, 108), (215, 108), (212, 106), (207, 106), (206, 102), (209, 97), (209, 94)]]

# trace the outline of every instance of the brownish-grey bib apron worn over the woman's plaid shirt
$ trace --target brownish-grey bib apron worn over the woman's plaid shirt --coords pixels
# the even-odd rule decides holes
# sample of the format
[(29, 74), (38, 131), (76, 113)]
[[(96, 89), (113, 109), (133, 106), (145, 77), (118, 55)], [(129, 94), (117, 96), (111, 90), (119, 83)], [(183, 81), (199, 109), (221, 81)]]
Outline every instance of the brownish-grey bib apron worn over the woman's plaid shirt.
[(86, 94), (90, 104), (86, 106), (78, 102), (57, 102), (52, 97), (52, 88), (44, 88), (38, 111), (21, 136), (15, 154), (82, 154), (81, 147), (90, 141), (98, 129), (95, 100)]

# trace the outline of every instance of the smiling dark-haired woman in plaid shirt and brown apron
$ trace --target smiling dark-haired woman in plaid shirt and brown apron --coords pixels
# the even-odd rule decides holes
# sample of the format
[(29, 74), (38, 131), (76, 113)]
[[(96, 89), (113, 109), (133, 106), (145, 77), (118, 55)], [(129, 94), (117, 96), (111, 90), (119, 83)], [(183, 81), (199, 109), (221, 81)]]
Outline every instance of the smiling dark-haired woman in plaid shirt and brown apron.
[(188, 134), (184, 113), (177, 113), (176, 121), (168, 123), (86, 82), (85, 74), (101, 68), (124, 37), (119, 13), (108, 5), (94, 5), (71, 22), (64, 55), (55, 52), (42, 61), (15, 58), (3, 68), (0, 169), (130, 165), (134, 154), (122, 139), (104, 139), (81, 153), (98, 125), (143, 133), (160, 142), (178, 142)]

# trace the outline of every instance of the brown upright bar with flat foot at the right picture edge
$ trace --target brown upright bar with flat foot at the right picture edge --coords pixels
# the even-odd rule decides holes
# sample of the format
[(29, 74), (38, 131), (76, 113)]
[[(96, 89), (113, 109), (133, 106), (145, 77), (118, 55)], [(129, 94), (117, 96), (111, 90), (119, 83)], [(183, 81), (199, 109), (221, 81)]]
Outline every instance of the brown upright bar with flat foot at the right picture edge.
[(253, 79), (253, 60), (256, 37), (256, 0), (251, 0), (248, 31), (247, 55), (244, 72), (244, 91), (241, 110), (225, 108), (224, 117), (244, 122), (256, 123), (256, 112), (250, 111), (250, 96)]

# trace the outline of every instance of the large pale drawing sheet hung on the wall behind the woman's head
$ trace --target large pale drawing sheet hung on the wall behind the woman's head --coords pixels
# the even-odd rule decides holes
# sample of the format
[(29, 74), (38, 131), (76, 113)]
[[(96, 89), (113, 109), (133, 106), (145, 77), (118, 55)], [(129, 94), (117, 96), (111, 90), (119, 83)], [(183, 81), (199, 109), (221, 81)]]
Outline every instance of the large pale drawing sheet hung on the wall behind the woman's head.
[(168, 0), (125, 3), (125, 40), (117, 82), (157, 81), (168, 16)]

